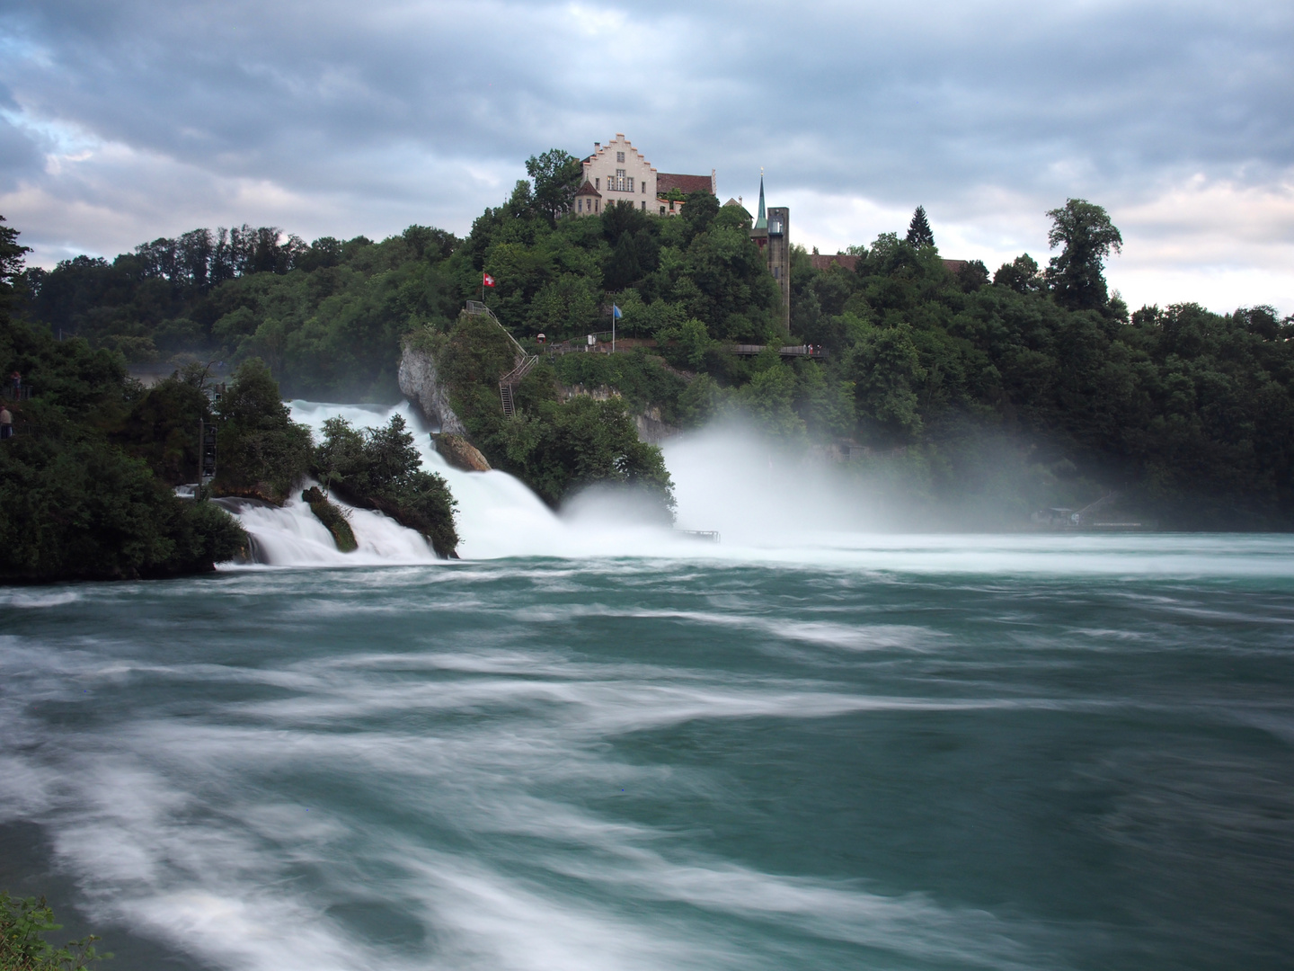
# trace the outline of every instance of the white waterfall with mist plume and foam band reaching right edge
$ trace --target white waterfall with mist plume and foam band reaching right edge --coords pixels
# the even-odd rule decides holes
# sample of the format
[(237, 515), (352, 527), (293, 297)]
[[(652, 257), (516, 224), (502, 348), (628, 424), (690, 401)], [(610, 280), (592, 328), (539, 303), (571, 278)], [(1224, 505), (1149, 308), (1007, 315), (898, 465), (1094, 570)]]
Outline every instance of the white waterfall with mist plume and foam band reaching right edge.
[[(1294, 576), (1289, 536), (886, 532), (884, 517), (858, 483), (831, 469), (788, 463), (735, 427), (666, 443), (679, 530), (643, 523), (630, 504), (608, 495), (578, 497), (559, 515), (506, 473), (450, 467), (408, 401), (393, 408), (292, 401), (291, 408), (316, 435), (327, 418), (369, 427), (404, 416), (423, 466), (443, 475), (458, 501), (458, 553), (465, 559), (629, 557), (897, 574)], [(392, 519), (369, 510), (349, 514), (360, 549), (342, 554), (299, 496), (283, 509), (238, 513), (260, 558), (274, 566), (435, 562), (427, 544)], [(685, 530), (718, 531), (722, 542), (697, 540)]]

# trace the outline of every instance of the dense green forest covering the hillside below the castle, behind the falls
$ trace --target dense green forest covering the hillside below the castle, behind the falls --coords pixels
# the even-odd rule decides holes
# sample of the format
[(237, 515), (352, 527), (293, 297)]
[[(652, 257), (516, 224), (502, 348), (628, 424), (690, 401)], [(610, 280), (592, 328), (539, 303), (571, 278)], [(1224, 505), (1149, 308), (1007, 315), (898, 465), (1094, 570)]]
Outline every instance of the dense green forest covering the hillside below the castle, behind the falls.
[[(395, 400), (401, 340), (443, 348), (488, 273), (485, 302), (523, 342), (607, 330), (615, 304), (619, 333), (653, 344), (551, 359), (512, 423), (467, 408), (492, 461), (549, 501), (598, 478), (571, 471), (577, 429), (622, 430), (620, 413), (563, 410), (572, 387), (607, 386), (681, 427), (740, 414), (795, 447), (844, 445), (854, 474), (932, 509), (978, 497), (986, 524), (1118, 491), (1162, 526), (1294, 526), (1290, 318), (1260, 306), (1130, 313), (1106, 289), (1122, 238), (1099, 206), (1048, 214), (1047, 265), (1024, 254), (991, 273), (973, 260), (951, 272), (923, 210), (906, 233), (851, 247), (851, 265), (815, 268), (797, 247), (785, 334), (743, 208), (696, 193), (678, 218), (628, 206), (575, 218), (578, 163), (554, 150), (528, 171), (463, 240), (418, 225), (309, 245), (273, 228), (199, 229), (17, 274), (16, 312), (118, 360), (256, 356), (287, 395)], [(806, 342), (827, 356), (741, 359), (734, 342)], [(497, 375), (477, 377), (484, 387)]]

